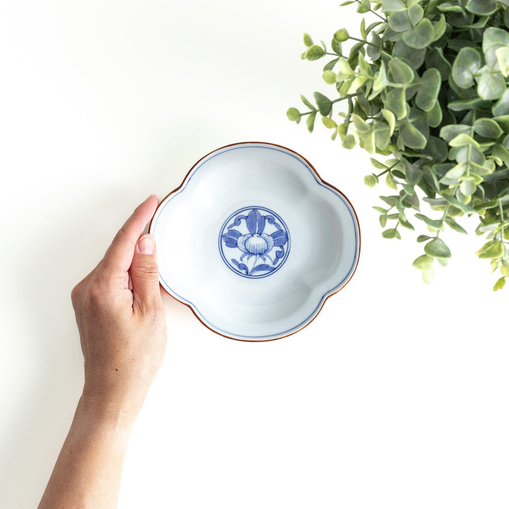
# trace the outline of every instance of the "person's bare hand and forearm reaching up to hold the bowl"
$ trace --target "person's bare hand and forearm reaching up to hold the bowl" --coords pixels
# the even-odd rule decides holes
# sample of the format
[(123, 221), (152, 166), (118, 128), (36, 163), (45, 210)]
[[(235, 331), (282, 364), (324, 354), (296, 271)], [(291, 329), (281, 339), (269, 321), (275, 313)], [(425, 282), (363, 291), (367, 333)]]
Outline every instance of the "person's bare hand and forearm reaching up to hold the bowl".
[(137, 207), (72, 291), (85, 383), (39, 509), (117, 506), (130, 430), (166, 349), (155, 243), (142, 235), (157, 204)]

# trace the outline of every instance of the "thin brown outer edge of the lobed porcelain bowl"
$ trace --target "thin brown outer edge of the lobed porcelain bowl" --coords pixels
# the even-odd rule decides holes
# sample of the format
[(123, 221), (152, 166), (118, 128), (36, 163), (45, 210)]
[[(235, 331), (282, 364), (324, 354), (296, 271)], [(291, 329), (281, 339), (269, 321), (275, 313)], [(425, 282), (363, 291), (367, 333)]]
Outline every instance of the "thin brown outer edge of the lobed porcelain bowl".
[(219, 150), (222, 150), (222, 149), (225, 149), (227, 147), (233, 147), (234, 145), (272, 145), (273, 147), (279, 147), (280, 149), (285, 149), (285, 150), (288, 150), (288, 152), (292, 152), (293, 154), (299, 156), (302, 160), (306, 161), (306, 163), (309, 165), (309, 167), (315, 172), (315, 175), (320, 179), (320, 181), (325, 184), (326, 186), (334, 189), (335, 191), (337, 191), (338, 193), (340, 193), (344, 199), (350, 204), (350, 207), (352, 207), (352, 210), (353, 210), (353, 213), (355, 214), (355, 219), (357, 220), (357, 228), (359, 230), (359, 254), (357, 256), (357, 262), (355, 264), (355, 267), (353, 269), (353, 272), (350, 274), (350, 277), (348, 278), (348, 280), (345, 282), (345, 284), (338, 290), (336, 290), (335, 292), (331, 293), (330, 295), (327, 295), (327, 297), (325, 297), (325, 299), (323, 300), (322, 302), (322, 305), (318, 308), (318, 310), (316, 310), (316, 313), (315, 313), (315, 316), (309, 320), (309, 322), (307, 322), (305, 325), (302, 325), (302, 327), (298, 328), (297, 330), (293, 331), (293, 332), (290, 332), (289, 334), (285, 334), (284, 336), (279, 336), (279, 337), (273, 337), (272, 339), (270, 340), (242, 340), (238, 337), (232, 337), (232, 336), (227, 336), (225, 334), (221, 334), (220, 332), (218, 332), (217, 330), (214, 330), (212, 327), (209, 327), (209, 325), (207, 325), (195, 312), (195, 310), (193, 309), (193, 307), (191, 305), (189, 305), (187, 302), (183, 302), (182, 300), (178, 299), (177, 297), (175, 297), (175, 295), (172, 295), (171, 293), (169, 293), (162, 285), (161, 285), (161, 288), (170, 296), (170, 297), (173, 297), (177, 302), (180, 302), (181, 304), (184, 304), (185, 306), (187, 306), (193, 313), (193, 315), (202, 323), (202, 325), (204, 325), (205, 327), (207, 327), (207, 329), (211, 330), (212, 332), (215, 332), (216, 334), (219, 334), (220, 336), (223, 336), (223, 337), (228, 337), (230, 340), (235, 340), (235, 341), (244, 341), (246, 343), (265, 343), (267, 341), (276, 341), (276, 340), (280, 340), (284, 337), (288, 337), (288, 336), (291, 336), (292, 334), (295, 334), (296, 332), (299, 332), (301, 331), (304, 327), (307, 327), (311, 322), (313, 322), (313, 320), (315, 320), (315, 318), (320, 314), (325, 302), (327, 301), (327, 299), (329, 299), (330, 297), (332, 297), (333, 295), (335, 295), (336, 293), (340, 292), (341, 290), (343, 290), (347, 285), (348, 283), (350, 282), (350, 279), (352, 279), (352, 276), (355, 274), (355, 271), (357, 270), (357, 265), (359, 264), (359, 260), (360, 260), (360, 223), (359, 223), (359, 217), (357, 216), (357, 212), (355, 211), (353, 205), (352, 205), (352, 202), (350, 202), (350, 200), (348, 199), (348, 197), (342, 192), (340, 191), (337, 187), (333, 186), (332, 184), (329, 184), (328, 182), (326, 182), (325, 180), (322, 179), (322, 177), (320, 177), (320, 174), (316, 171), (316, 168), (315, 166), (313, 166), (313, 164), (311, 164), (305, 157), (301, 156), (298, 152), (295, 152), (295, 150), (292, 150), (292, 149), (289, 149), (288, 147), (284, 147), (282, 145), (277, 145), (276, 143), (270, 143), (270, 142), (240, 142), (240, 143), (230, 143), (229, 145), (224, 145), (223, 147), (219, 147), (218, 149), (214, 149), (213, 151), (209, 152), (208, 154), (204, 155), (201, 159), (197, 160), (191, 167), (191, 169), (187, 172), (186, 176), (183, 178), (182, 180), (182, 183), (180, 184), (179, 187), (176, 187), (173, 191), (169, 192), (168, 194), (166, 194), (166, 196), (164, 196), (164, 198), (159, 202), (159, 205), (157, 206), (157, 209), (156, 211), (154, 212), (154, 215), (152, 216), (152, 219), (150, 220), (150, 223), (149, 223), (149, 232), (150, 232), (150, 229), (152, 228), (152, 221), (154, 220), (154, 217), (156, 216), (157, 214), (157, 211), (159, 210), (159, 207), (161, 207), (161, 205), (166, 201), (166, 199), (168, 198), (168, 196), (171, 196), (173, 193), (177, 192), (183, 185), (184, 185), (184, 182), (186, 181), (187, 177), (190, 175), (190, 173), (193, 171), (193, 169), (196, 167), (197, 164), (199, 164), (201, 161), (203, 161), (206, 157), (210, 156), (210, 154), (213, 154), (214, 152), (217, 152)]

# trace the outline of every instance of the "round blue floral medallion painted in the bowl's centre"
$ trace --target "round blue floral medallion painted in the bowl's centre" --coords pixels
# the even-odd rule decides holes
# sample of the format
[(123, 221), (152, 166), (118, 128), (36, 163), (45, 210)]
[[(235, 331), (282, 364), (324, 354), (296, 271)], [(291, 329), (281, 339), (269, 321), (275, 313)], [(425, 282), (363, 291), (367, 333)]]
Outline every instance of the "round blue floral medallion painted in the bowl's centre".
[(249, 207), (238, 210), (224, 222), (219, 249), (234, 272), (259, 278), (285, 263), (290, 238), (286, 224), (277, 214), (264, 207)]

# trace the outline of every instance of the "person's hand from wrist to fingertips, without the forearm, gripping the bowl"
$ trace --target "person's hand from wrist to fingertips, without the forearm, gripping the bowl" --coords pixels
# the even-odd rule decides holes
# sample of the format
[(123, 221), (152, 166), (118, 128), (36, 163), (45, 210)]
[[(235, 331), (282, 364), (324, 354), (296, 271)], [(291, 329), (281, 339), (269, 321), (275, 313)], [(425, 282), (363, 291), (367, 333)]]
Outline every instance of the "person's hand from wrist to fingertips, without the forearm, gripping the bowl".
[(156, 249), (141, 235), (158, 205), (151, 195), (104, 258), (71, 293), (84, 357), (81, 401), (101, 418), (134, 421), (166, 349)]

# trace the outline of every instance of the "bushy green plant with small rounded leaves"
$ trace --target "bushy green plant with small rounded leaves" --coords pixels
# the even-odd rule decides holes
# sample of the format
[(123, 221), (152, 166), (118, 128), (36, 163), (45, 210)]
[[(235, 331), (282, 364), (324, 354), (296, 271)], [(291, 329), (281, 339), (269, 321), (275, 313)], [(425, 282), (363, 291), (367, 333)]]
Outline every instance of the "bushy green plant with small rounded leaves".
[[(477, 215), (477, 235), (487, 242), (477, 251), (500, 270), (494, 290), (509, 277), (509, 0), (351, 0), (362, 17), (360, 37), (338, 30), (329, 51), (304, 34), (302, 59), (332, 59), (323, 79), (339, 97), (315, 92), (315, 103), (301, 96), (308, 111), (290, 108), (287, 116), (313, 131), (317, 115), (343, 147), (357, 143), (379, 171), (364, 178), (374, 187), (385, 176), (395, 192), (380, 196), (385, 238), (401, 239), (400, 227), (414, 231), (408, 212), (428, 233), (424, 254), (413, 265), (429, 282), (436, 260), (451, 253), (440, 238), (444, 225), (467, 232), (457, 217)], [(344, 52), (346, 41), (353, 43)], [(346, 106), (332, 118), (334, 105)], [(420, 189), (418, 192), (416, 190)], [(420, 212), (421, 199), (439, 211)]]

